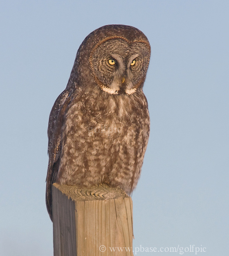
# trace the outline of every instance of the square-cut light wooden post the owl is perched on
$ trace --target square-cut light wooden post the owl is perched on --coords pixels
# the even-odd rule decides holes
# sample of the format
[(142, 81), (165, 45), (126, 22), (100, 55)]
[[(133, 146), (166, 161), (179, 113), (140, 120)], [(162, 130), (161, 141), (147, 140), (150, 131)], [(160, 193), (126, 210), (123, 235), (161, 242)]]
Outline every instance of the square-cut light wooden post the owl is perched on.
[(123, 190), (52, 189), (54, 256), (133, 256), (132, 199)]

